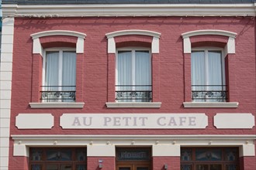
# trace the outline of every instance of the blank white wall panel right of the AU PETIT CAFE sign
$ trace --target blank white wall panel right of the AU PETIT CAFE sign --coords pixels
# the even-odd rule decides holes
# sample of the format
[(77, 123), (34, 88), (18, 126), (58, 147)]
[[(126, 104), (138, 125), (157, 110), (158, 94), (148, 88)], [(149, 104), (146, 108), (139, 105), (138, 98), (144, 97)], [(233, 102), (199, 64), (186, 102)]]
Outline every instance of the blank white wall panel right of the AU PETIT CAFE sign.
[(217, 113), (213, 124), (217, 129), (251, 129), (255, 126), (255, 117), (247, 113)]

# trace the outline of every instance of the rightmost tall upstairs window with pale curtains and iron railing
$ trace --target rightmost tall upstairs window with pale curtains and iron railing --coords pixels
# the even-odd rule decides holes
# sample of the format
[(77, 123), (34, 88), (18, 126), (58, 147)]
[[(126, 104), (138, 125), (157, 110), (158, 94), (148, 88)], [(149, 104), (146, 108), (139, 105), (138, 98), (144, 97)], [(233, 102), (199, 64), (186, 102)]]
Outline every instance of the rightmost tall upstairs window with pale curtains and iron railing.
[(196, 49), (191, 54), (192, 100), (223, 102), (227, 98), (221, 50)]

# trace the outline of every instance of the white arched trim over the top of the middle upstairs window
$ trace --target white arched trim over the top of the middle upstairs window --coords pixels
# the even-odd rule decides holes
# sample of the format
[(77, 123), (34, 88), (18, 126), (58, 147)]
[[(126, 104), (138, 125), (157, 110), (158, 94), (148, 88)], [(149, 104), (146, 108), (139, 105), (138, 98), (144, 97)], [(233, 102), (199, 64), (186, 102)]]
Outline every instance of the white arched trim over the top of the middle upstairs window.
[(161, 33), (140, 29), (126, 29), (106, 33), (106, 37), (108, 39), (108, 53), (116, 53), (116, 42), (114, 39), (116, 36), (129, 35), (152, 36), (151, 53), (159, 53), (159, 38), (161, 36)]

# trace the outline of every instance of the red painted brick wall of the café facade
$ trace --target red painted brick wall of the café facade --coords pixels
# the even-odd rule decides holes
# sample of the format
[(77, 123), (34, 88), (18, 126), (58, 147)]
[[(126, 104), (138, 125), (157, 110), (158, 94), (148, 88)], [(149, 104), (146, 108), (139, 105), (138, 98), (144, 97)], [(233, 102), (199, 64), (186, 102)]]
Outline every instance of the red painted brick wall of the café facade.
[[(13, 45), (12, 108), (10, 134), (255, 134), (252, 129), (216, 129), (213, 116), (216, 113), (252, 113), (255, 116), (255, 31), (251, 17), (117, 17), (117, 18), (16, 18)], [(154, 101), (160, 101), (161, 108), (107, 108), (107, 101), (114, 101), (115, 56), (107, 53), (106, 33), (124, 29), (144, 29), (160, 32), (160, 53), (154, 54), (152, 70)], [(236, 53), (228, 56), (231, 101), (239, 102), (238, 108), (184, 108), (189, 101), (190, 71), (189, 55), (183, 54), (182, 33), (199, 29), (221, 29), (236, 32)], [(39, 100), (41, 83), (40, 55), (33, 55), (31, 34), (50, 30), (71, 30), (85, 33), (85, 53), (78, 55), (77, 95), (85, 107), (61, 109), (32, 109), (30, 102)], [(253, 38), (252, 38), (253, 37)], [(220, 37), (219, 37), (220, 38)], [(123, 38), (126, 39), (126, 38)], [(140, 39), (140, 38), (138, 38)], [(144, 39), (147, 46), (148, 37)], [(141, 40), (140, 39), (140, 40)], [(201, 37), (198, 37), (201, 39)], [(197, 39), (197, 40), (198, 40)], [(221, 38), (220, 38), (221, 39)], [(122, 37), (119, 46), (122, 43)], [(133, 42), (137, 38), (132, 38)], [(45, 40), (46, 41), (46, 40)], [(196, 39), (195, 39), (196, 41)], [(223, 42), (227, 39), (222, 39)], [(74, 42), (74, 39), (71, 41)], [(198, 43), (199, 44), (199, 43)], [(197, 44), (197, 45), (198, 45)], [(48, 45), (47, 45), (48, 46)], [(47, 47), (46, 46), (46, 47)], [(36, 64), (36, 65), (35, 65)], [(37, 77), (37, 78), (34, 78)], [(109, 93), (111, 92), (112, 93)], [(54, 128), (50, 130), (19, 130), (15, 119), (19, 113), (50, 113), (54, 115)], [(63, 130), (58, 124), (64, 113), (206, 113), (209, 125), (203, 130)], [(11, 142), (12, 143), (12, 142)], [(12, 144), (10, 145), (12, 146)], [(10, 150), (12, 155), (12, 149)], [(114, 164), (114, 158), (104, 158)], [(169, 160), (170, 159), (170, 160)], [(174, 160), (175, 159), (175, 160)], [(244, 158), (242, 162), (255, 162), (255, 157)], [(97, 169), (99, 158), (88, 158), (88, 169)], [(153, 158), (154, 169), (161, 169), (164, 162), (175, 162), (173, 169), (179, 169), (179, 158)], [(10, 158), (11, 167), (16, 163), (27, 167), (26, 158)], [(177, 165), (176, 165), (177, 164)], [(112, 165), (104, 165), (104, 169)], [(255, 165), (244, 164), (245, 169)]]

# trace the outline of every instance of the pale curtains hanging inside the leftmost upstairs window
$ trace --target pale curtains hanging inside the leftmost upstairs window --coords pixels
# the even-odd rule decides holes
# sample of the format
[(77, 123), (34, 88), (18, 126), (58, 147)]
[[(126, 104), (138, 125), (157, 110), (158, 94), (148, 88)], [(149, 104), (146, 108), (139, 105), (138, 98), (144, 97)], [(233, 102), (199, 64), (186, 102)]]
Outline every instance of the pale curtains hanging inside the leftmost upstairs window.
[[(46, 56), (46, 73), (44, 90), (47, 91), (75, 91), (76, 84), (76, 53), (75, 52), (47, 52)], [(69, 87), (65, 87), (69, 86)], [(71, 87), (74, 86), (74, 87)], [(51, 93), (48, 98), (57, 98), (60, 101), (65, 98), (65, 101), (73, 101), (69, 97), (69, 93), (61, 93), (61, 97), (57, 97), (57, 93)], [(69, 100), (68, 98), (71, 98)]]

